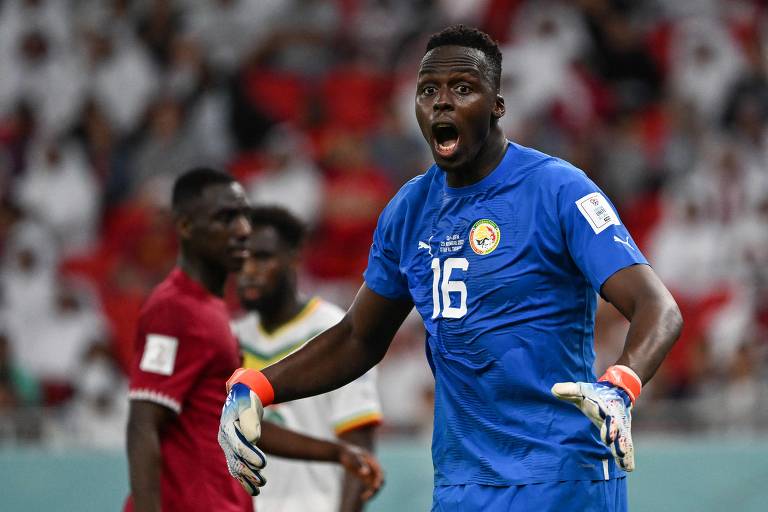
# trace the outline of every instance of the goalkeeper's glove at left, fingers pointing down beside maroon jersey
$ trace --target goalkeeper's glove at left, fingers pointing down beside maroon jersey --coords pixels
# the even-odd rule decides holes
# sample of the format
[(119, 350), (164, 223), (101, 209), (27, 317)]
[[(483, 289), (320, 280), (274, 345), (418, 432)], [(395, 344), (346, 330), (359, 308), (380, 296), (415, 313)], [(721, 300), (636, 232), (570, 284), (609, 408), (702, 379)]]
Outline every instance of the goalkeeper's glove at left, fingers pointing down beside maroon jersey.
[(251, 496), (257, 496), (259, 488), (267, 483), (261, 474), (267, 459), (256, 447), (264, 415), (264, 404), (258, 391), (266, 405), (272, 402), (274, 391), (261, 372), (242, 368), (227, 381), (227, 391), (219, 424), (219, 445), (224, 451), (229, 473)]

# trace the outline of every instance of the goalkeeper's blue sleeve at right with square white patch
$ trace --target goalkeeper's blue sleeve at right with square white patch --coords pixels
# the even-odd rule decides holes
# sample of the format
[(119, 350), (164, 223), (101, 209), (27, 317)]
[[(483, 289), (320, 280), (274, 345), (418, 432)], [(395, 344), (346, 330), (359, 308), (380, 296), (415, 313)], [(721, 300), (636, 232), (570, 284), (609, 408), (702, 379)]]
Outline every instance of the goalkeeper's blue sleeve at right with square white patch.
[(599, 293), (619, 270), (648, 264), (606, 195), (581, 171), (565, 170), (558, 193), (558, 215), (568, 251)]

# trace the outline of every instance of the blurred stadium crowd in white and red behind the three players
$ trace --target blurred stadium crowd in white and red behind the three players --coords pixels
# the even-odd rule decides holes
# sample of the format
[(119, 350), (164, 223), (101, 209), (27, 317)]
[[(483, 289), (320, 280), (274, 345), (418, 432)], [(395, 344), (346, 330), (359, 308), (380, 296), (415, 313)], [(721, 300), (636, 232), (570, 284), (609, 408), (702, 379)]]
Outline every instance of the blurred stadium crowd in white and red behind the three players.
[[(0, 509), (119, 508), (135, 322), (189, 167), (304, 219), (302, 288), (348, 305), (379, 212), (430, 163), (416, 70), (455, 22), (502, 44), (508, 137), (587, 172), (683, 311), (635, 411), (633, 510), (768, 499), (768, 2), (0, 0)], [(601, 304), (597, 372), (627, 326)], [(409, 318), (380, 366), (371, 510), (428, 508), (423, 350)], [(95, 483), (68, 505), (78, 471)]]

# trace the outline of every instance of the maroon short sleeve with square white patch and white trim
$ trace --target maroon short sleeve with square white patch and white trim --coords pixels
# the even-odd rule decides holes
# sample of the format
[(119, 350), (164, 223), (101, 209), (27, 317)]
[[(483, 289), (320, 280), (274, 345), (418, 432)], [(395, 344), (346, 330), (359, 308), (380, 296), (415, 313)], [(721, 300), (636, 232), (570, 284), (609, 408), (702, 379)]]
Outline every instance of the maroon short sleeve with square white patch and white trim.
[(157, 308), (140, 319), (128, 396), (180, 413), (210, 357), (207, 344), (189, 332), (191, 319), (177, 309)]

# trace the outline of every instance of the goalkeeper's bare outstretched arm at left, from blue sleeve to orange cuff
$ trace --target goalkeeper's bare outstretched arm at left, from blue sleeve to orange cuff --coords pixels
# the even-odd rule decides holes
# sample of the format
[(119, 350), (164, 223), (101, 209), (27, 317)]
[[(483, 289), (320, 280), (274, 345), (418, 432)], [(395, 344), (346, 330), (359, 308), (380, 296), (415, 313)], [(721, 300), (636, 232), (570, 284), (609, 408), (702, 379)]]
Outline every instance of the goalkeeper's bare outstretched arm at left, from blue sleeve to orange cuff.
[(412, 308), (410, 300), (387, 299), (363, 284), (338, 324), (264, 369), (275, 402), (319, 395), (363, 375), (384, 357)]

